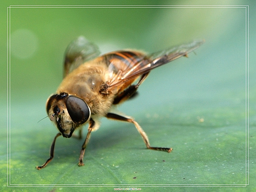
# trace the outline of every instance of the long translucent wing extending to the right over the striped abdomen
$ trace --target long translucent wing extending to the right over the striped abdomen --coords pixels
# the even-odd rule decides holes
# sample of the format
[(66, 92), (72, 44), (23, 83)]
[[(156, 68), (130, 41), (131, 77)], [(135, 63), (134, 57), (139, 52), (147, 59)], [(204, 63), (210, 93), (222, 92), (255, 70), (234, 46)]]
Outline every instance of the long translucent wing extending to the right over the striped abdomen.
[(127, 69), (122, 73), (119, 73), (119, 76), (115, 78), (115, 81), (112, 81), (112, 83), (108, 85), (108, 90), (112, 90), (115, 87), (118, 87), (121, 84), (124, 84), (125, 82), (130, 81), (131, 79), (135, 79), (136, 77), (144, 73), (148, 73), (149, 71), (151, 71), (156, 67), (169, 63), (182, 56), (187, 56), (189, 52), (194, 51), (203, 43), (204, 43), (204, 40), (193, 41), (190, 44), (182, 44), (177, 47), (172, 47), (172, 48), (148, 55), (148, 57), (145, 57), (143, 60), (134, 64), (131, 69)]

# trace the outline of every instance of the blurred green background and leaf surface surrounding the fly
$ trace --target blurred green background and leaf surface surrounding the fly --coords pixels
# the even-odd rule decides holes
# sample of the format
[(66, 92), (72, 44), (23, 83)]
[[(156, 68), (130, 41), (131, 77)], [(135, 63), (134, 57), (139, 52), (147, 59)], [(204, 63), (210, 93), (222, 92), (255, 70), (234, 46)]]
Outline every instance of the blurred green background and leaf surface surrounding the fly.
[[(73, 1), (73, 5), (224, 5), (223, 1)], [(23, 1), (23, 5), (51, 5), (51, 1)], [(54, 5), (57, 5), (55, 3)], [(175, 8), (32, 8), (10, 9), (10, 120), (9, 184), (6, 188), (6, 28), (7, 7), (20, 1), (2, 1), (1, 96), (3, 134), (0, 140), (0, 174), (3, 191), (84, 190), (63, 187), (109, 184), (206, 185), (197, 191), (256, 190), (255, 182), (255, 2), (225, 1), (250, 6), (250, 185), (246, 139), (246, 13), (238, 7)], [(61, 1), (61, 5), (70, 5)], [(55, 158), (41, 171), (57, 133), (46, 116), (45, 102), (63, 76), (67, 45), (79, 35), (99, 46), (102, 53), (117, 49), (156, 52), (194, 39), (205, 44), (151, 72), (140, 86), (139, 97), (119, 110), (133, 116), (148, 134), (152, 146), (172, 147), (168, 154), (146, 150), (134, 125), (102, 119), (78, 167), (83, 140), (59, 137)], [(247, 69), (248, 70), (248, 69)], [(248, 106), (247, 106), (248, 107)], [(248, 123), (248, 122), (247, 122)], [(84, 126), (86, 135), (87, 126)], [(246, 143), (247, 142), (247, 143)], [(136, 178), (134, 178), (136, 177)], [(44, 188), (25, 187), (46, 185)], [(61, 186), (53, 186), (53, 185)], [(144, 186), (141, 186), (144, 185)], [(88, 187), (86, 189), (94, 190)], [(113, 190), (111, 187), (97, 190)], [(157, 190), (148, 187), (148, 190)], [(161, 190), (170, 188), (161, 187)], [(173, 188), (192, 191), (193, 188)]]

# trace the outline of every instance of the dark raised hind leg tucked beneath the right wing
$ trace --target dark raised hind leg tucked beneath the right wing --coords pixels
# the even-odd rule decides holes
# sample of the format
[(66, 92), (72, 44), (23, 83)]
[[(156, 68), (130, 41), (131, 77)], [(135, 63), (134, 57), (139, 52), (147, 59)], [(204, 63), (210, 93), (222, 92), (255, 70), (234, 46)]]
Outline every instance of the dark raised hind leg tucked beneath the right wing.
[(120, 102), (124, 102), (125, 100), (129, 99), (131, 96), (134, 95), (134, 93), (137, 91), (137, 89), (139, 88), (140, 84), (142, 84), (142, 82), (147, 78), (149, 72), (148, 73), (144, 73), (141, 77), (140, 77), (140, 81), (136, 84), (136, 85), (131, 85), (130, 87), (128, 87), (126, 90), (124, 90), (122, 93), (120, 93), (118, 96), (115, 97), (113, 104), (119, 104)]

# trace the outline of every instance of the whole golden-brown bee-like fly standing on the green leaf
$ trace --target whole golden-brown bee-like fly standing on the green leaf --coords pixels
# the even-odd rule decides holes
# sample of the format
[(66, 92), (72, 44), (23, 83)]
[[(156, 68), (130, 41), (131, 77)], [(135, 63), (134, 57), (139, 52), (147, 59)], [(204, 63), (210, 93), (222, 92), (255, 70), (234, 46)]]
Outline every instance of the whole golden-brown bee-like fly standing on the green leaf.
[[(70, 138), (81, 125), (89, 124), (88, 133), (81, 147), (79, 166), (84, 166), (84, 151), (90, 134), (100, 127), (99, 119), (106, 117), (135, 125), (146, 148), (171, 152), (172, 148), (152, 147), (148, 136), (140, 125), (130, 116), (114, 110), (115, 105), (125, 102), (137, 93), (140, 84), (148, 77), (149, 72), (163, 64), (186, 56), (198, 48), (203, 41), (193, 41), (172, 47), (160, 52), (146, 55), (137, 50), (121, 50), (102, 56), (96, 45), (80, 36), (70, 43), (64, 59), (64, 79), (46, 103), (49, 119), (58, 128), (51, 148), (50, 157), (40, 170), (54, 157), (54, 147), (57, 137)], [(74, 135), (73, 135), (74, 136)]]

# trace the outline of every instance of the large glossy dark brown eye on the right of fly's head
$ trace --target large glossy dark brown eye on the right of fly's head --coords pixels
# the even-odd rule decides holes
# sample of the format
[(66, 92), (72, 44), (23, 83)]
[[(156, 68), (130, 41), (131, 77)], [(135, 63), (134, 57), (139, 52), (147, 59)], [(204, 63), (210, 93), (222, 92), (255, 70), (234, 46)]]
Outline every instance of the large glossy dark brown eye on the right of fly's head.
[(76, 96), (69, 96), (66, 106), (73, 122), (83, 124), (90, 118), (90, 108), (84, 100)]

